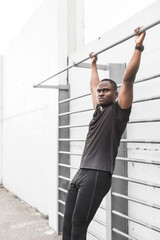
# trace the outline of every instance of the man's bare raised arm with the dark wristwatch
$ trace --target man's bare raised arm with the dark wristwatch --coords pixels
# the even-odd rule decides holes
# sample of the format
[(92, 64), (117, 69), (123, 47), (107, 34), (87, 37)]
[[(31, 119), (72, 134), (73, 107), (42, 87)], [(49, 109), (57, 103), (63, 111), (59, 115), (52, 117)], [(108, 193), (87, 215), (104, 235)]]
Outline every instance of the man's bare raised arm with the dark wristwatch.
[[(135, 34), (137, 34), (140, 29), (141, 28), (138, 27), (135, 30)], [(118, 98), (118, 104), (122, 109), (129, 108), (132, 105), (133, 84), (134, 84), (134, 80), (140, 65), (144, 37), (145, 37), (145, 32), (138, 34), (135, 37), (137, 49), (135, 48), (133, 56), (127, 66), (126, 72), (122, 80), (122, 86), (121, 86), (119, 98)]]

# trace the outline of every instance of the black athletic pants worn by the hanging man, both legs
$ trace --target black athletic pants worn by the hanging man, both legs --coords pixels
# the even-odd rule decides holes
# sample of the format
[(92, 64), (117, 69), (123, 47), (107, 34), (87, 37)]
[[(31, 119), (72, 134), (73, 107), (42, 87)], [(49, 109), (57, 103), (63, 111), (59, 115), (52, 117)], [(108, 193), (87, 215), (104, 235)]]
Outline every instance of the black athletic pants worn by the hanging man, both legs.
[(111, 173), (79, 169), (68, 189), (63, 240), (86, 240), (87, 228), (111, 186)]

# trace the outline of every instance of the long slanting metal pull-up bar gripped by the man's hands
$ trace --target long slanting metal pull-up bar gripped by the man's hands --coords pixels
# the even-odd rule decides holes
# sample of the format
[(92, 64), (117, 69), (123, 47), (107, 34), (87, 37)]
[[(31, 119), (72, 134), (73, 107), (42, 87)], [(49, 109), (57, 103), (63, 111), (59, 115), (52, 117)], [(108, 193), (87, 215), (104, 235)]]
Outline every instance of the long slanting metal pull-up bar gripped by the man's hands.
[[(158, 25), (159, 23), (160, 23), (160, 20), (157, 20), (157, 21), (155, 21), (155, 22), (147, 25), (146, 27), (143, 27), (142, 29), (140, 29), (139, 33), (142, 33), (142, 32), (144, 32), (144, 31), (146, 31), (146, 30), (148, 30), (148, 29), (150, 29), (150, 28)], [(138, 34), (139, 34), (139, 33), (138, 33)], [(60, 70), (59, 72), (53, 74), (51, 77), (49, 77), (49, 78), (45, 79), (44, 81), (42, 81), (42, 82), (34, 85), (34, 87), (39, 87), (39, 85), (41, 85), (42, 83), (50, 80), (51, 78), (53, 78), (53, 77), (55, 77), (55, 76), (58, 76), (59, 74), (65, 72), (65, 71), (67, 71), (67, 70), (69, 70), (69, 69), (71, 69), (71, 68), (73, 68), (73, 67), (75, 67), (75, 66), (77, 66), (77, 65), (79, 65), (79, 64), (81, 64), (82, 62), (87, 61), (88, 59), (90, 59), (90, 58), (93, 57), (93, 56), (96, 56), (96, 55), (98, 55), (98, 54), (100, 54), (100, 53), (103, 53), (103, 52), (105, 52), (105, 51), (107, 51), (107, 50), (109, 50), (109, 49), (111, 49), (111, 48), (113, 48), (113, 47), (115, 47), (115, 46), (117, 46), (117, 45), (119, 45), (119, 44), (127, 41), (128, 39), (134, 37), (135, 35), (137, 35), (137, 34), (132, 33), (132, 34), (130, 34), (130, 35), (127, 35), (126, 37), (123, 37), (122, 39), (120, 39), (120, 40), (118, 40), (118, 41), (116, 41), (116, 42), (114, 42), (114, 43), (106, 46), (105, 48), (103, 48), (103, 49), (95, 52), (94, 54), (92, 54), (92, 56), (88, 56), (88, 57), (86, 57), (86, 58), (84, 58), (84, 59), (82, 59), (82, 60), (80, 60), (80, 61), (78, 61), (78, 62), (74, 62), (72, 65), (69, 65), (68, 67), (66, 67), (66, 68)]]

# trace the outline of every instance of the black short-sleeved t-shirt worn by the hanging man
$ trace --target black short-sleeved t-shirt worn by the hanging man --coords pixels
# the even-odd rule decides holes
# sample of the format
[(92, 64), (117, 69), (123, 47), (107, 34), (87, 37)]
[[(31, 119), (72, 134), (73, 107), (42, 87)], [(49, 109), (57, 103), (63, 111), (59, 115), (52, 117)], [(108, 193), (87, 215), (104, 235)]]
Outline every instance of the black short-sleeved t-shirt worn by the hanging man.
[(113, 173), (121, 136), (129, 121), (131, 107), (121, 109), (118, 102), (100, 110), (97, 105), (81, 159), (80, 168)]

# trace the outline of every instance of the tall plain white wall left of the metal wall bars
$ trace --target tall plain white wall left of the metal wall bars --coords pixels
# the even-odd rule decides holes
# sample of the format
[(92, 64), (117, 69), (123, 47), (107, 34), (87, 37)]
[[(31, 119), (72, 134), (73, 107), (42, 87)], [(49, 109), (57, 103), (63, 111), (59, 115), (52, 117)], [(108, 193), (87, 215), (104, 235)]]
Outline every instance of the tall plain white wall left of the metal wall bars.
[[(58, 90), (33, 85), (66, 67), (68, 54), (83, 45), (83, 12), (83, 1), (44, 1), (4, 56), (3, 185), (48, 215), (56, 231)], [(66, 84), (66, 76), (45, 84)]]

